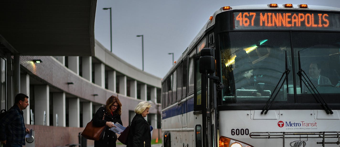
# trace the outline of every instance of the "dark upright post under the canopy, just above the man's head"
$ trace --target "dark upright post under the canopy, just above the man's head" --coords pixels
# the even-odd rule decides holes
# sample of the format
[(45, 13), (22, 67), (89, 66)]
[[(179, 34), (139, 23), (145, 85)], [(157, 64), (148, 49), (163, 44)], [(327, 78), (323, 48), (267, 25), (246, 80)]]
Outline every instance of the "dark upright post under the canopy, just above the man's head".
[(13, 98), (20, 93), (20, 56), (14, 55)]

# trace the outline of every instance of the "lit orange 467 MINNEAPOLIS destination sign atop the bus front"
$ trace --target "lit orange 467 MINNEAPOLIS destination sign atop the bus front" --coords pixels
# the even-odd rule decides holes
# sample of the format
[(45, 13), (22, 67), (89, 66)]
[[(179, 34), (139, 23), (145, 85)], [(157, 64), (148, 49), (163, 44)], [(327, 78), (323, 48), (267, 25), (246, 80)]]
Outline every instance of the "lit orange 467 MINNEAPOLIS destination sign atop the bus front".
[(293, 29), (340, 31), (340, 14), (322, 12), (234, 12), (234, 30)]

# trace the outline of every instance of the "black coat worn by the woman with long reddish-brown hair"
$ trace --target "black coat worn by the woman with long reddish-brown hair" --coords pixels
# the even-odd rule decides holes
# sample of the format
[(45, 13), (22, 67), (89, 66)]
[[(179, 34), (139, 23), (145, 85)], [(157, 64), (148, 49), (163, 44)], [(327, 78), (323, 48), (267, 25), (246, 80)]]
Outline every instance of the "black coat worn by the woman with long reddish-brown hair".
[[(103, 115), (105, 112), (105, 117), (103, 119)], [(118, 122), (119, 124), (123, 125), (122, 120), (120, 119), (120, 115), (114, 114), (108, 114), (106, 112), (105, 107), (100, 107), (95, 116), (93, 117), (93, 125), (95, 126), (106, 126), (106, 122)], [(95, 141), (95, 147), (116, 147), (116, 141), (117, 141), (117, 135), (115, 132), (109, 130), (109, 127), (105, 127), (103, 131), (103, 136), (99, 141)]]

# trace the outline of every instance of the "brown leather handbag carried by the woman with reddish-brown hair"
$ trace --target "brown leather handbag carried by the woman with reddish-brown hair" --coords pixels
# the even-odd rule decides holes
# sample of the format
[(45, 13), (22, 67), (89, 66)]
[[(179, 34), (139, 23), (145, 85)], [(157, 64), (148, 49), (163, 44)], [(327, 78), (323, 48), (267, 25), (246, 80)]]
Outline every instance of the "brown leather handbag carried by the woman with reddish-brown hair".
[[(105, 112), (104, 112), (103, 120), (104, 120), (104, 117), (105, 117)], [(103, 136), (102, 132), (105, 127), (106, 127), (105, 125), (102, 127), (96, 127), (93, 125), (93, 121), (91, 120), (89, 123), (87, 123), (81, 135), (84, 136), (86, 139), (99, 141), (99, 139)]]

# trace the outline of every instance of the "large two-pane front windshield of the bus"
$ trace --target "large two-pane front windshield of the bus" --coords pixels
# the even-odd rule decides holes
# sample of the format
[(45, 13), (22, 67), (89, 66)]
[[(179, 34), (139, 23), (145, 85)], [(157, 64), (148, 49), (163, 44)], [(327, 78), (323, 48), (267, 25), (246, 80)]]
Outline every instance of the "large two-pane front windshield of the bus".
[(339, 51), (340, 33), (222, 33), (222, 104), (266, 103), (276, 86), (274, 103), (319, 103), (317, 92), (327, 103), (340, 103)]

